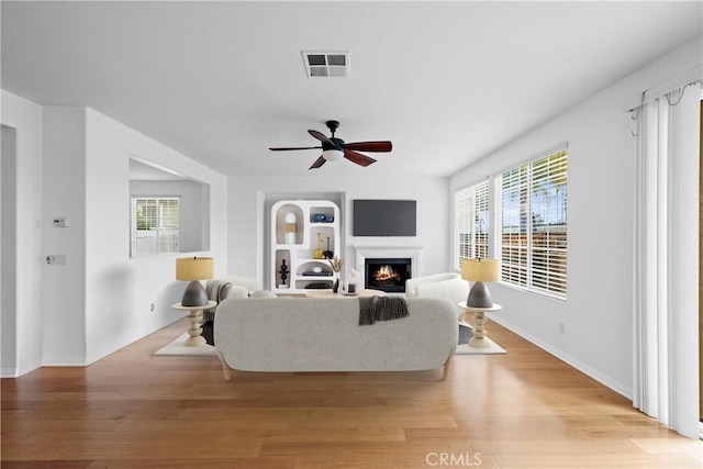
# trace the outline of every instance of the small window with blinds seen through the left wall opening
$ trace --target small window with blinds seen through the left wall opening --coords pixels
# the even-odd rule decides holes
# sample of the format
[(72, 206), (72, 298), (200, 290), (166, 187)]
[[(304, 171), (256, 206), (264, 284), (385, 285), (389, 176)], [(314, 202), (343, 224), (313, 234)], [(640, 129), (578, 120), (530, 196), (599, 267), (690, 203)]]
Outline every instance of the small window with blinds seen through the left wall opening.
[(132, 198), (132, 257), (179, 252), (180, 198)]

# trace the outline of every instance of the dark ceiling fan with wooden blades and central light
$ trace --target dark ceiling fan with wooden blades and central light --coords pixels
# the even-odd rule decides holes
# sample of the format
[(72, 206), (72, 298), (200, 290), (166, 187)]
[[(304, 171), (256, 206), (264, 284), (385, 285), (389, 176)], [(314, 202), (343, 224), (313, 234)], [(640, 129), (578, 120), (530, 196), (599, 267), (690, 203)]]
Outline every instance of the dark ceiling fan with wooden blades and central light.
[(390, 152), (393, 149), (393, 144), (388, 141), (382, 142), (353, 142), (345, 143), (342, 138), (334, 136), (335, 131), (339, 126), (337, 121), (325, 122), (331, 137), (326, 137), (323, 133), (317, 131), (308, 131), (310, 135), (317, 138), (322, 146), (302, 146), (302, 147), (284, 147), (284, 148), (269, 148), (274, 152), (288, 152), (291, 149), (313, 149), (322, 148), (322, 155), (315, 159), (315, 163), (309, 169), (315, 169), (324, 165), (326, 161), (336, 161), (342, 157), (347, 158), (349, 161), (356, 163), (360, 166), (369, 166), (371, 163), (376, 163), (376, 159), (362, 155), (358, 152)]

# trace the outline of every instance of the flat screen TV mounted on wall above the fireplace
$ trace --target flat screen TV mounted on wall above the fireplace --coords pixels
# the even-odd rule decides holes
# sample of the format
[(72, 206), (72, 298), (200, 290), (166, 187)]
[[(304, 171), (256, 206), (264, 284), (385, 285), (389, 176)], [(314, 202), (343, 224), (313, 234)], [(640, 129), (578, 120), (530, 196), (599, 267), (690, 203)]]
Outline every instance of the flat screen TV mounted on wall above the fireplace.
[(354, 236), (415, 236), (417, 202), (357, 199), (353, 220)]

